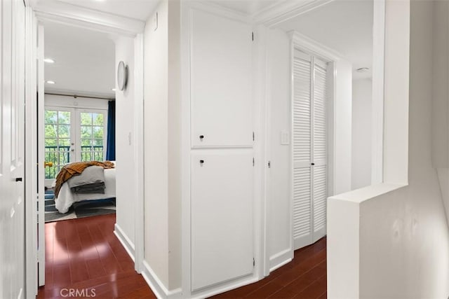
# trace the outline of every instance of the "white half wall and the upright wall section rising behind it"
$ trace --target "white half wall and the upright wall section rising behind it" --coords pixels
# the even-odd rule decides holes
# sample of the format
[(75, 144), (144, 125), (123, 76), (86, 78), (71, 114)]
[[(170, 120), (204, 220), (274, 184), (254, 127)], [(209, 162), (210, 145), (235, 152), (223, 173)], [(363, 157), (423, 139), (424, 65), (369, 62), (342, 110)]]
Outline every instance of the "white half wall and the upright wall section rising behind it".
[[(385, 151), (400, 150), (402, 134), (407, 135), (408, 151), (402, 155), (408, 158), (408, 186), (384, 183), (330, 199), (328, 213), (334, 221), (328, 232), (329, 298), (449, 295), (449, 230), (438, 177), (431, 166), (432, 6), (431, 1), (412, 1), (409, 22), (407, 1), (387, 2), (385, 70), (389, 88), (385, 90), (385, 109), (401, 109), (385, 114), (384, 134), (390, 135)], [(408, 70), (409, 24), (410, 97), (408, 82), (401, 74)], [(391, 102), (397, 106), (389, 105)], [(408, 120), (404, 130), (403, 122)], [(386, 178), (396, 182), (403, 168)], [(342, 211), (335, 209), (341, 206), (338, 201), (359, 204), (359, 209), (347, 210), (342, 216)], [(334, 230), (343, 228), (346, 219), (354, 216), (356, 221), (346, 223), (340, 235)], [(359, 229), (356, 235), (353, 228)]]

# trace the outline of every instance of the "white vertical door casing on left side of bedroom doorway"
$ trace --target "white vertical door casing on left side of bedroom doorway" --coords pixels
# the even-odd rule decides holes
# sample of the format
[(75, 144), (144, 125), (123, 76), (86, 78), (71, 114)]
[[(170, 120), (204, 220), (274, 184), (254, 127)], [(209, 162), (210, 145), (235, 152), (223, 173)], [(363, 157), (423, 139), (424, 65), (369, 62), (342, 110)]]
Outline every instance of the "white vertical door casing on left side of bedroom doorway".
[(36, 153), (26, 148), (37, 148), (36, 132), (36, 33), (37, 21), (32, 8), (26, 11), (25, 46), (25, 297), (37, 295), (37, 176)]

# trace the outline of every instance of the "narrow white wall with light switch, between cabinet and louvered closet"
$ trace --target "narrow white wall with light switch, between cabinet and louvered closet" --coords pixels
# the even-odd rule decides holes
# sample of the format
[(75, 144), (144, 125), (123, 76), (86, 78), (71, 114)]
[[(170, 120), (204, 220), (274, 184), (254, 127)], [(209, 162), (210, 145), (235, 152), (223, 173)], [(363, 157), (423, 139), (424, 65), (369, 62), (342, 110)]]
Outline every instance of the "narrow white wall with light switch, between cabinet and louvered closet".
[(267, 31), (269, 193), (267, 195), (269, 267), (291, 258), (290, 146), (281, 145), (281, 131), (290, 132), (290, 38), (279, 29)]

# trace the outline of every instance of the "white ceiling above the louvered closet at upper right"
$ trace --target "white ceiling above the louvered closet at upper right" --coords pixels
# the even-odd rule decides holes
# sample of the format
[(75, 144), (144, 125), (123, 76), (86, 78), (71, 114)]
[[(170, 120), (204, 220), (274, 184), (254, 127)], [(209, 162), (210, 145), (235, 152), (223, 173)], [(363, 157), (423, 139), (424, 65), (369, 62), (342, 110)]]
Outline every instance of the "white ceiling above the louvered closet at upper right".
[[(335, 0), (281, 23), (344, 55), (353, 69), (373, 65), (373, 0)], [(370, 78), (371, 71), (353, 78)]]

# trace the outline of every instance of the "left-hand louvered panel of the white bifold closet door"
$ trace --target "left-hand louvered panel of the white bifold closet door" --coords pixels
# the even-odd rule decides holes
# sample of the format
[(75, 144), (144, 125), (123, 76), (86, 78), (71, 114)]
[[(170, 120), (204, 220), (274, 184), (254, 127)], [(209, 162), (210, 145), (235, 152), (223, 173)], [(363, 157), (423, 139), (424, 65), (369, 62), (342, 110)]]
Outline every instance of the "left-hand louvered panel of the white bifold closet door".
[(311, 57), (298, 51), (293, 61), (293, 240), (311, 243)]

